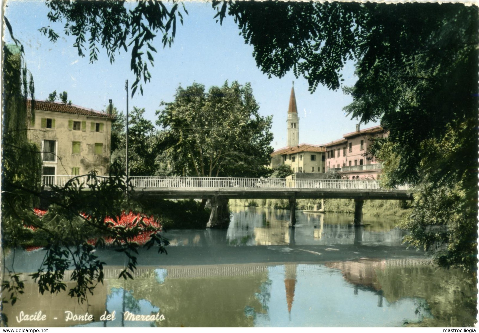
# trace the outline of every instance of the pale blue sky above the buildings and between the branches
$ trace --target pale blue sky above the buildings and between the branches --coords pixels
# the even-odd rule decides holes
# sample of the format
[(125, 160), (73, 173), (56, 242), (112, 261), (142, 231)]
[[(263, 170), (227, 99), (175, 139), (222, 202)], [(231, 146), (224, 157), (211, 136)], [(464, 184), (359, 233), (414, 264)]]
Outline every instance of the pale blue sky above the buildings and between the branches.
[[(286, 116), (292, 81), (295, 81), (299, 122), (299, 141), (323, 144), (340, 139), (342, 134), (354, 130), (356, 120), (344, 114), (342, 108), (352, 98), (338, 91), (319, 86), (313, 94), (308, 92), (306, 79), (288, 73), (283, 78), (268, 79), (257, 68), (252, 57), (253, 48), (244, 43), (233, 20), (227, 17), (223, 25), (213, 19), (215, 11), (210, 3), (186, 2), (189, 15), (184, 17), (183, 26), (177, 26), (176, 38), (171, 48), (163, 49), (158, 38), (154, 54), (155, 66), (150, 68), (152, 79), (144, 85), (144, 94), (130, 99), (130, 110), (135, 107), (146, 109), (145, 117), (156, 120), (155, 110), (160, 102), (172, 101), (178, 85), (189, 86), (194, 82), (210, 86), (221, 86), (228, 80), (240, 84), (251, 82), (253, 94), (260, 104), (260, 113), (273, 115), (274, 149), (286, 145)], [(130, 72), (129, 53), (116, 54), (110, 64), (104, 50), (99, 59), (89, 64), (87, 57), (80, 57), (72, 46), (73, 38), (62, 34), (62, 25), (50, 24), (47, 7), (39, 0), (10, 0), (5, 15), (9, 19), (15, 38), (25, 48), (25, 60), (35, 82), (35, 97), (46, 99), (48, 94), (67, 91), (73, 104), (103, 110), (108, 99), (113, 99), (119, 110), (126, 110), (125, 80), (131, 86), (134, 75)], [(51, 43), (38, 29), (51, 25), (61, 38)], [(9, 35), (5, 35), (6, 42)], [(88, 52), (86, 52), (88, 54)], [(344, 85), (354, 84), (354, 64), (343, 70)], [(362, 125), (362, 128), (376, 123)]]

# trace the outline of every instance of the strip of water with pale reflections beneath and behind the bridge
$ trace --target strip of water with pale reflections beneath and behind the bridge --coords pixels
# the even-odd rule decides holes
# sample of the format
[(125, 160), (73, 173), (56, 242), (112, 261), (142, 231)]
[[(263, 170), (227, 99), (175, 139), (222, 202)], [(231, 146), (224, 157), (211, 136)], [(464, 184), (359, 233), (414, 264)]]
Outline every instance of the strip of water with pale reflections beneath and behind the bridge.
[(400, 245), (404, 236), (394, 219), (367, 217), (365, 226), (354, 227), (350, 214), (298, 211), (296, 228), (292, 229), (288, 226), (287, 210), (258, 207), (232, 207), (232, 210), (227, 233), (230, 245)]

